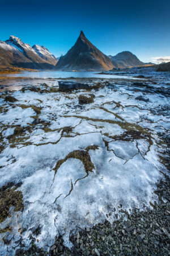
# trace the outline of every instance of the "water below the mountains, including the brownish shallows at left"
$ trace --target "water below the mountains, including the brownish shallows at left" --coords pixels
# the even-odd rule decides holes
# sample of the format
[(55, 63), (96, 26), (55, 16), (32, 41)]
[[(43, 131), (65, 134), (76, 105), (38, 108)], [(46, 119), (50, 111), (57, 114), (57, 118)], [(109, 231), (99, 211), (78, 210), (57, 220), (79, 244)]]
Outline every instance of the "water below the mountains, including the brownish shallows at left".
[[(6, 79), (1, 79), (1, 77), (6, 77)], [(42, 82), (47, 82), (49, 86), (58, 86), (57, 79), (65, 79), (69, 77), (95, 79), (133, 79), (132, 77), (128, 76), (101, 75), (94, 72), (23, 71), (20, 73), (0, 74), (0, 92), (4, 90), (20, 90), (23, 86), (38, 85), (42, 84)]]

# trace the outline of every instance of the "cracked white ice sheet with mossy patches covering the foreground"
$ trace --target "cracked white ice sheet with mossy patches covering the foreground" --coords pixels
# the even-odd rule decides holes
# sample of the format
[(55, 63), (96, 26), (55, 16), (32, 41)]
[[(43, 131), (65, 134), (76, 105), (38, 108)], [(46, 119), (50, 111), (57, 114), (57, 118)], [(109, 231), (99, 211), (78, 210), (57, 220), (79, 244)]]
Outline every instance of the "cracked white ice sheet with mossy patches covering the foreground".
[[(168, 86), (169, 77), (154, 79), (142, 82)], [(14, 188), (20, 201), (1, 216), (1, 255), (14, 255), (21, 243), (28, 249), (32, 240), (47, 248), (59, 233), (71, 246), (70, 230), (113, 221), (120, 205), (130, 212), (157, 200), (169, 100), (142, 87), (102, 81), (99, 90), (63, 93), (42, 84), (37, 92), (8, 93), (13, 103), (1, 93), (0, 188)], [(94, 103), (79, 105), (83, 93), (95, 94)]]

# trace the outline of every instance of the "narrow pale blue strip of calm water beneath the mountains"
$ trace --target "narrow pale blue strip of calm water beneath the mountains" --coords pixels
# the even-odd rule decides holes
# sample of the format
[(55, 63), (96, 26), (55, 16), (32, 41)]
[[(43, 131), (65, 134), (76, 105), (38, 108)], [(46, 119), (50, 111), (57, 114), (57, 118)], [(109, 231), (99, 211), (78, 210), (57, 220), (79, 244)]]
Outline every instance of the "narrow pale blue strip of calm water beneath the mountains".
[(38, 71), (38, 72), (30, 72), (30, 71), (23, 71), (20, 73), (14, 74), (7, 74), (7, 75), (0, 75), (7, 76), (7, 77), (31, 77), (31, 78), (39, 78), (39, 79), (58, 79), (58, 78), (67, 78), (67, 77), (76, 77), (76, 78), (130, 78), (128, 76), (117, 76), (117, 75), (101, 75), (95, 72), (65, 72), (65, 71)]

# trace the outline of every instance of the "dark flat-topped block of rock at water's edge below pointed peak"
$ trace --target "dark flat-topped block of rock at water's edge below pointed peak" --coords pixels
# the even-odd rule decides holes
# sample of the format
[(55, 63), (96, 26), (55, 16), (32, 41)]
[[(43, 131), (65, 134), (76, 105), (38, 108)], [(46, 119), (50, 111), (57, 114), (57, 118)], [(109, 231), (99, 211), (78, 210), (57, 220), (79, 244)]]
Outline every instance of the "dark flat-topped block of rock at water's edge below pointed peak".
[(81, 84), (80, 82), (70, 82), (70, 81), (58, 81), (60, 92), (70, 92), (71, 90), (78, 89), (90, 89), (88, 84)]

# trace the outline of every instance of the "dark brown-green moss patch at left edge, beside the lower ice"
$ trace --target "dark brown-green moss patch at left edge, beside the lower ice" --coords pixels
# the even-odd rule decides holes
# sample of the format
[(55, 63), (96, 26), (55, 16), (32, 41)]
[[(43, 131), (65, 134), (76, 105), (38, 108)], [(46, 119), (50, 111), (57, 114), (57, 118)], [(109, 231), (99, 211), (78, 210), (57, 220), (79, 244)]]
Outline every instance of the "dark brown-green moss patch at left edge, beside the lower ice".
[(0, 188), (0, 223), (9, 216), (10, 207), (14, 207), (14, 212), (23, 210), (23, 195), (21, 191), (15, 191), (21, 184), (14, 185), (8, 183)]

